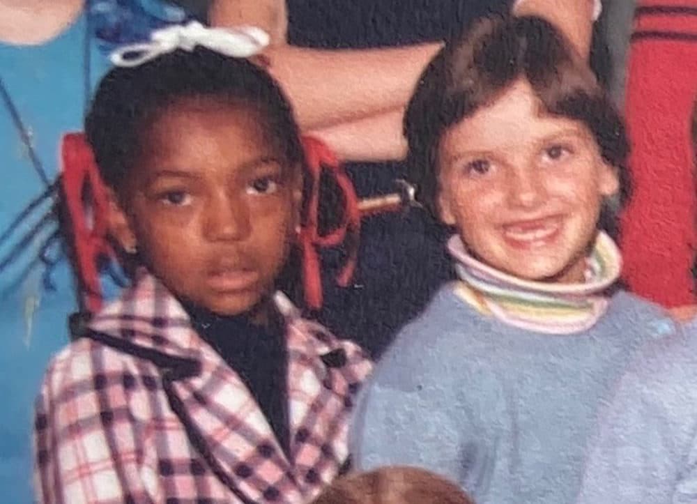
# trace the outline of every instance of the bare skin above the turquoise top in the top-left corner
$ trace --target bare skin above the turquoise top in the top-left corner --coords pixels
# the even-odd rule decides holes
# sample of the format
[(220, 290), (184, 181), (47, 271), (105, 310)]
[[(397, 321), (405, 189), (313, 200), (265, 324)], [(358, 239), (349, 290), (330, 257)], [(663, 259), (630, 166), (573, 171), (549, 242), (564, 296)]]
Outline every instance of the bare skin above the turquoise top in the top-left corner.
[(66, 31), (84, 0), (0, 0), (0, 42), (40, 45)]

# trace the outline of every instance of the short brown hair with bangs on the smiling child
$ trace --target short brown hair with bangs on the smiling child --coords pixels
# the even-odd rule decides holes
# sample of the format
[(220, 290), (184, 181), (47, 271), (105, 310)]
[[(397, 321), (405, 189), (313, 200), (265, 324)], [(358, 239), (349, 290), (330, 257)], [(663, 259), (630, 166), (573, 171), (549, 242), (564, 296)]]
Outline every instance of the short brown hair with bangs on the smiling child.
[(445, 131), (525, 79), (551, 115), (584, 123), (618, 169), (620, 204), (629, 197), (625, 125), (588, 64), (549, 22), (491, 15), (447, 43), (429, 63), (404, 116), (409, 178), (434, 216), (438, 149)]

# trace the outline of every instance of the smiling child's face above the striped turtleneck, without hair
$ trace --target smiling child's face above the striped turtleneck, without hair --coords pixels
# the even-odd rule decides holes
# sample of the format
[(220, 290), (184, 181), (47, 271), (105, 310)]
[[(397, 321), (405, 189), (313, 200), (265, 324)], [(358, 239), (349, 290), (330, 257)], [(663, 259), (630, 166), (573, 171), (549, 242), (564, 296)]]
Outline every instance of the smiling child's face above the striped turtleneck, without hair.
[(525, 280), (581, 282), (604, 197), (618, 190), (588, 128), (545, 114), (527, 82), (441, 142), (441, 217), (475, 256)]

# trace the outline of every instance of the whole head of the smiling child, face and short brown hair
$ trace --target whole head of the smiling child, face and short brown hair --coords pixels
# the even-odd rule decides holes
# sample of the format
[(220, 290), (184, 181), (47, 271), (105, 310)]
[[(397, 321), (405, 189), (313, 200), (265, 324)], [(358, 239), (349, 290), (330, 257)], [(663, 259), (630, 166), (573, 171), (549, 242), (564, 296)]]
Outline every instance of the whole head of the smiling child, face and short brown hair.
[(431, 62), (405, 117), (420, 199), (523, 280), (583, 282), (601, 211), (626, 195), (620, 116), (551, 24), (490, 17)]

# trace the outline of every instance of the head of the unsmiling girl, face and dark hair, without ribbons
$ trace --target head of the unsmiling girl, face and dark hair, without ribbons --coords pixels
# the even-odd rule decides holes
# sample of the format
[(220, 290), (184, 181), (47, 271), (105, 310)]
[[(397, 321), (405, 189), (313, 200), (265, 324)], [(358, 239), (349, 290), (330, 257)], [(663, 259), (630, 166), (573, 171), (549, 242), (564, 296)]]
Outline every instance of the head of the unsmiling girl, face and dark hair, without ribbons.
[(85, 130), (123, 250), (217, 314), (268, 299), (300, 224), (303, 153), (266, 72), (204, 48), (114, 68)]

